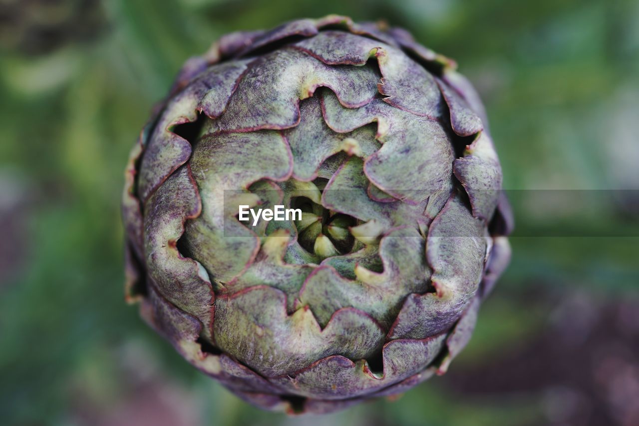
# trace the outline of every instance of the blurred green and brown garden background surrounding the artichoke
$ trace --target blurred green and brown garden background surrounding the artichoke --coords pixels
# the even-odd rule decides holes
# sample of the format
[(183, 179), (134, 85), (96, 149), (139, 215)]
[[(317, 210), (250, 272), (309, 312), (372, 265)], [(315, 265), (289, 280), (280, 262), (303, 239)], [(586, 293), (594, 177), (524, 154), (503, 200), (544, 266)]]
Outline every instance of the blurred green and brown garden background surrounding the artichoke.
[[(204, 377), (124, 303), (119, 200), (185, 59), (328, 13), (458, 60), (517, 230), (448, 374), (289, 418)], [(635, 0), (0, 0), (0, 423), (638, 425), (638, 75)]]

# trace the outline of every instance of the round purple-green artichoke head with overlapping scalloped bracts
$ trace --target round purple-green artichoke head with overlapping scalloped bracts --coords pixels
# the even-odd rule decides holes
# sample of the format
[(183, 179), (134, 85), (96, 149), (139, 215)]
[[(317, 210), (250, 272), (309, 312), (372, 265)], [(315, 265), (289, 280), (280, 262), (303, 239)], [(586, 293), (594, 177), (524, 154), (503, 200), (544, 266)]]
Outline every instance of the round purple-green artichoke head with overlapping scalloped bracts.
[[(335, 15), (189, 59), (125, 172), (128, 301), (266, 409), (327, 413), (445, 372), (512, 226), (455, 68)], [(299, 211), (247, 221), (242, 205)]]

